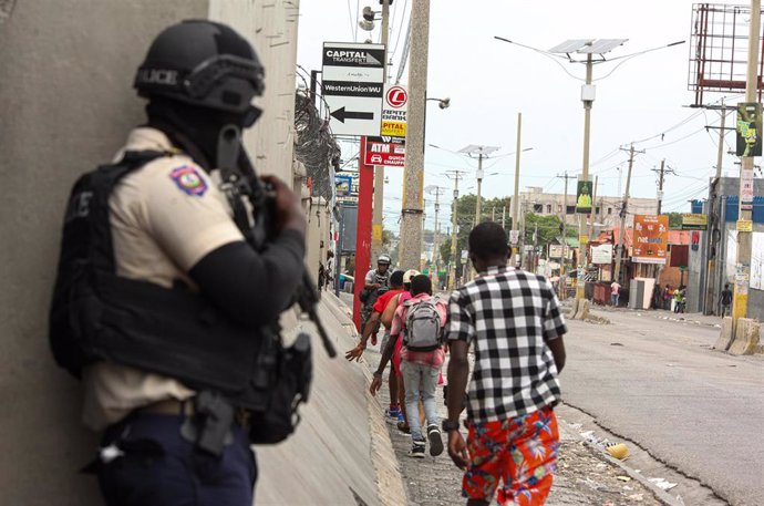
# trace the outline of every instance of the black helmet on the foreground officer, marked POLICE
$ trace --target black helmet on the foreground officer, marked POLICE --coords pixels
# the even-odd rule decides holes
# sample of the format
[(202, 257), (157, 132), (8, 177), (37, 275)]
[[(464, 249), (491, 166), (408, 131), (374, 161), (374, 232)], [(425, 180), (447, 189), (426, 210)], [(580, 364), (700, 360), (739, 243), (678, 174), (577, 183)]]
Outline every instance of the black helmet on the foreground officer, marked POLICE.
[(188, 20), (159, 33), (138, 68), (138, 95), (165, 96), (217, 111), (247, 114), (262, 94), (264, 69), (252, 47), (230, 27)]

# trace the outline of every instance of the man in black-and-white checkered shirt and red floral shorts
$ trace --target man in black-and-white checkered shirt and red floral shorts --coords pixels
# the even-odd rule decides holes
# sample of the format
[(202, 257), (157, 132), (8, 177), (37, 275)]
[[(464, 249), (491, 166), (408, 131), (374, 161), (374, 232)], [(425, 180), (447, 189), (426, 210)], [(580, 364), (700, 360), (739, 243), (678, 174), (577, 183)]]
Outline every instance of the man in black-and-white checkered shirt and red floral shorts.
[[(454, 291), (448, 307), (448, 455), (465, 469), (467, 505), (543, 505), (556, 469), (559, 434), (553, 406), (567, 332), (557, 297), (541, 276), (506, 267), (507, 235), (495, 223), (469, 234), (479, 277)], [(467, 442), (458, 417), (467, 386)], [(499, 481), (504, 484), (499, 488)]]

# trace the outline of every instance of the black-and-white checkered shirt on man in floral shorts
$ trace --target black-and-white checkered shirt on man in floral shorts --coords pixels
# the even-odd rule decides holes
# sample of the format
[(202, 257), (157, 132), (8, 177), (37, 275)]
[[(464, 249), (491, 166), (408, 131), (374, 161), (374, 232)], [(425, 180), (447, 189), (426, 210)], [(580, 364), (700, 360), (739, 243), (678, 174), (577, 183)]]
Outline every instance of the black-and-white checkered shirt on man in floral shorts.
[(476, 423), (533, 413), (560, 399), (547, 342), (568, 331), (543, 276), (492, 267), (454, 291), (446, 339), (473, 344), (467, 417)]

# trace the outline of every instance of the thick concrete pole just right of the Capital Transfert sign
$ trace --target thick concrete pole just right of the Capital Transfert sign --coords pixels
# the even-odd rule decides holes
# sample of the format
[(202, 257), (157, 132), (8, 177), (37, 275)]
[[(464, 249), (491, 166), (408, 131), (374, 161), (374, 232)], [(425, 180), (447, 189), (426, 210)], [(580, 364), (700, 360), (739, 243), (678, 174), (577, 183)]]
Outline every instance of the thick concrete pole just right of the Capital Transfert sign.
[(401, 268), (413, 269), (420, 264), (422, 236), (422, 184), (424, 180), (424, 107), (427, 90), (427, 50), (430, 39), (430, 0), (411, 6), (411, 65), (409, 65), (409, 112), (406, 127), (406, 162), (403, 171), (401, 206)]

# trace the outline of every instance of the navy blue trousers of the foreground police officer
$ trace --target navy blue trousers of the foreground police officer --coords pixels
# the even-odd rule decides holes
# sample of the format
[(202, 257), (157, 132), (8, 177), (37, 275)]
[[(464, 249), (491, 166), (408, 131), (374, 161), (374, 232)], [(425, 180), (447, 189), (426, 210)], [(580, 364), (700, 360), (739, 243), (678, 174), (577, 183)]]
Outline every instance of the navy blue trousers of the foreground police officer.
[(250, 506), (257, 466), (247, 434), (235, 425), (220, 457), (180, 435), (182, 415), (140, 413), (113, 425), (104, 446), (125, 452), (97, 471), (107, 506)]

